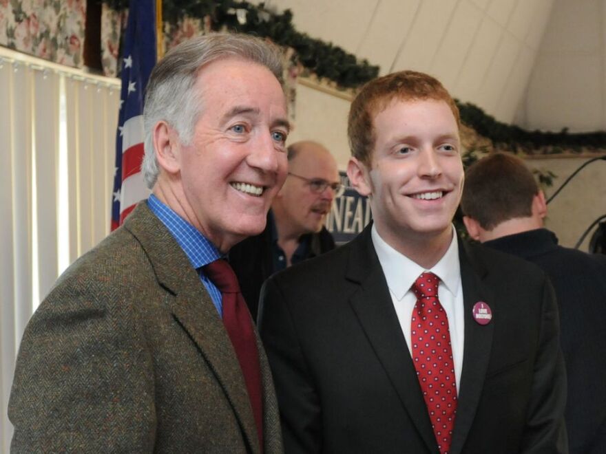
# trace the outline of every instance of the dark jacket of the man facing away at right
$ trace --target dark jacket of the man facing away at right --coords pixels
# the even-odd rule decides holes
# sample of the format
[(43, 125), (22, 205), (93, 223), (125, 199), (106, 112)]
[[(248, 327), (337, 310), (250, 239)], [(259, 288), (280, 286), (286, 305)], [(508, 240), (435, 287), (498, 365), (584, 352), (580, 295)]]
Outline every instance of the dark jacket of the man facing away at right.
[(558, 246), (556, 235), (545, 228), (487, 241), (485, 246), (532, 261), (550, 277), (568, 377), (570, 452), (606, 453), (606, 256)]

